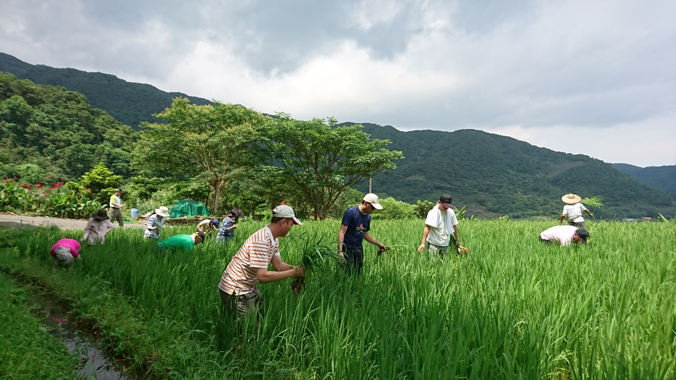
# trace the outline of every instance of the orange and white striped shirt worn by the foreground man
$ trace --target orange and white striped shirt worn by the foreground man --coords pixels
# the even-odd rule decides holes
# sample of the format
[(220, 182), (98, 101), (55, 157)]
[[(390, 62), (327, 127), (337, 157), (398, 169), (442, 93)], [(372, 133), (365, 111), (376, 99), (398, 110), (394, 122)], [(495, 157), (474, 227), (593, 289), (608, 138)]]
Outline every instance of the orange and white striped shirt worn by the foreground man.
[(266, 225), (254, 232), (239, 248), (220, 278), (218, 288), (227, 294), (247, 294), (258, 283), (256, 271), (267, 268), (272, 256), (279, 256), (279, 240)]

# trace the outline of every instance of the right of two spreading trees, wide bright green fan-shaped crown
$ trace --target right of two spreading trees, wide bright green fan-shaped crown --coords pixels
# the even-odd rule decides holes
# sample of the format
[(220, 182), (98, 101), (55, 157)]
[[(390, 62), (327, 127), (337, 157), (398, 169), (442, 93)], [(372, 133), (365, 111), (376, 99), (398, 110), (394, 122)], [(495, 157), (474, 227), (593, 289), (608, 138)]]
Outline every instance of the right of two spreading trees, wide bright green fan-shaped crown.
[(345, 190), (404, 157), (383, 148), (389, 140), (371, 140), (359, 124), (336, 124), (333, 117), (303, 121), (278, 113), (264, 130), (268, 167), (310, 200), (315, 219), (326, 219)]

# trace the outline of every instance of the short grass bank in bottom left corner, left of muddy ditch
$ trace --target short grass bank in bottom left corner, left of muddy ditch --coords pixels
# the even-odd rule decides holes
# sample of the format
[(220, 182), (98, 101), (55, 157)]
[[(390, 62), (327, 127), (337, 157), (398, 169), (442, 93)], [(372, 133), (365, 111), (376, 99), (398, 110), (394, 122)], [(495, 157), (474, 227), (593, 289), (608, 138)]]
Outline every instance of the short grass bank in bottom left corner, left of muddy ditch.
[(26, 290), (0, 274), (0, 294), (0, 378), (77, 379), (78, 357), (26, 308)]

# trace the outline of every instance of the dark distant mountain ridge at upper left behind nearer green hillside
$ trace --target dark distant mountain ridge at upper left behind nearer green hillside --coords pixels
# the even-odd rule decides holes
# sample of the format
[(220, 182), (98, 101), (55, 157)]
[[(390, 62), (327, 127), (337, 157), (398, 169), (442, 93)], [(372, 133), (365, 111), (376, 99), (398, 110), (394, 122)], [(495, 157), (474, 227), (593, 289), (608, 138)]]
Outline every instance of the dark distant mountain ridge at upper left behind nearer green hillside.
[(37, 84), (64, 86), (80, 92), (93, 107), (104, 109), (120, 123), (137, 130), (141, 121), (159, 121), (152, 115), (170, 107), (176, 97), (189, 98), (199, 105), (211, 103), (182, 92), (166, 92), (150, 84), (127, 82), (111, 74), (31, 65), (5, 53), (0, 53), (0, 72), (9, 72)]

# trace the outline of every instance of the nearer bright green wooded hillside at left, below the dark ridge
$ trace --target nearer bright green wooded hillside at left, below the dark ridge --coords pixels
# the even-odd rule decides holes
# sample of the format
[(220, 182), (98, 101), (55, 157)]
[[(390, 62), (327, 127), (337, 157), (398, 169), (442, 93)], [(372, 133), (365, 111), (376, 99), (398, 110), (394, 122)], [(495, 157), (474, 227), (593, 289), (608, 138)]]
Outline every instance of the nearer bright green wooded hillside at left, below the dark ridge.
[(135, 132), (63, 87), (0, 72), (0, 175), (26, 183), (74, 180), (103, 161), (128, 177)]

